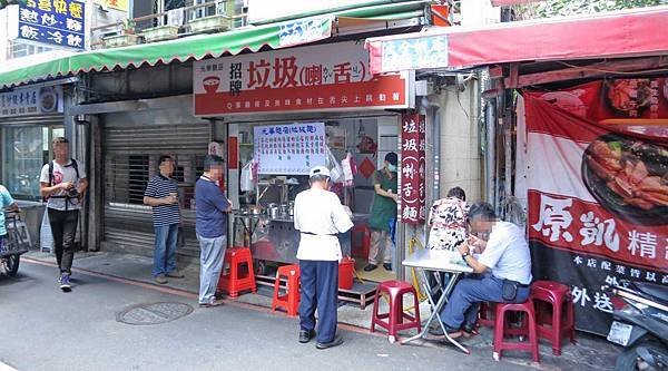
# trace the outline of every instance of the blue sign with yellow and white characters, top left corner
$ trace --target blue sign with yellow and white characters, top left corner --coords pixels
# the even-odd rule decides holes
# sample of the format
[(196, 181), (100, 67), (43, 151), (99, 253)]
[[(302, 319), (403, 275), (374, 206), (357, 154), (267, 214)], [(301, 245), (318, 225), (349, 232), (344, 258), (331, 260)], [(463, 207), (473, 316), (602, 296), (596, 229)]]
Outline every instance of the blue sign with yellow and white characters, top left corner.
[(21, 40), (63, 48), (86, 48), (86, 7), (76, 0), (28, 0), (19, 3)]

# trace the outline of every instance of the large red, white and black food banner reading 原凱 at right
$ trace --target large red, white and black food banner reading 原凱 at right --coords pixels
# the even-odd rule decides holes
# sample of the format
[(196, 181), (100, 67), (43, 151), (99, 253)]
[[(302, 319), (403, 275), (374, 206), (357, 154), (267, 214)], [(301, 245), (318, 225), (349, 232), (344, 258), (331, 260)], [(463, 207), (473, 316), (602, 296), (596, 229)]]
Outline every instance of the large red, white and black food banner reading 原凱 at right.
[(572, 287), (586, 331), (610, 328), (612, 297), (601, 285), (668, 284), (661, 89), (662, 79), (620, 79), (524, 94), (534, 274)]

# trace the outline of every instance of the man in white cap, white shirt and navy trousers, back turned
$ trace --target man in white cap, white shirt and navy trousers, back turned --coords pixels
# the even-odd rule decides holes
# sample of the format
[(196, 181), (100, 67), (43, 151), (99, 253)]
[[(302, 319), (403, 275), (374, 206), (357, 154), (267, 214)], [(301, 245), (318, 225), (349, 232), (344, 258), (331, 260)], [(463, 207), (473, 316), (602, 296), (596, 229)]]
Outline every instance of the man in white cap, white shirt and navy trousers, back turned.
[(301, 232), (297, 260), (302, 281), (299, 303), (299, 342), (307, 343), (316, 334), (315, 346), (341, 345), (336, 336), (338, 300), (338, 261), (342, 258), (337, 234), (353, 227), (351, 215), (338, 197), (330, 192), (330, 170), (316, 166), (310, 172), (311, 188), (295, 198), (295, 230)]

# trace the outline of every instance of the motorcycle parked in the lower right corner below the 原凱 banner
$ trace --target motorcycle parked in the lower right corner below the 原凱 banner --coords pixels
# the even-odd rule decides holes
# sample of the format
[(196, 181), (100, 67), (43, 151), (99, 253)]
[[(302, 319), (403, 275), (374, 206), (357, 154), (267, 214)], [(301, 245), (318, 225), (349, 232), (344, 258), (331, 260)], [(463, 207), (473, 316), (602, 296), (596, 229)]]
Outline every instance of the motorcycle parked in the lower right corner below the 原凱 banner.
[(603, 286), (612, 294), (615, 321), (608, 341), (625, 348), (616, 371), (668, 370), (668, 287), (622, 281)]

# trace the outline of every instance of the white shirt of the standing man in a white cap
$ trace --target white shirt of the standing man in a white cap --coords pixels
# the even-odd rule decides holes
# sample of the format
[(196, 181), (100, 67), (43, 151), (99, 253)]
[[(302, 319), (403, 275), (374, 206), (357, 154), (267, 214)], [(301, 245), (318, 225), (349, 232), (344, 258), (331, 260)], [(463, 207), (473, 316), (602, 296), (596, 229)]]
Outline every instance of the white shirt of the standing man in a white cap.
[(353, 222), (338, 197), (324, 189), (306, 189), (295, 198), (295, 230), (301, 234), (297, 258), (340, 261), (343, 256), (336, 234), (347, 232)]

